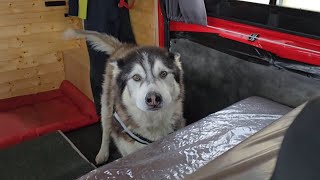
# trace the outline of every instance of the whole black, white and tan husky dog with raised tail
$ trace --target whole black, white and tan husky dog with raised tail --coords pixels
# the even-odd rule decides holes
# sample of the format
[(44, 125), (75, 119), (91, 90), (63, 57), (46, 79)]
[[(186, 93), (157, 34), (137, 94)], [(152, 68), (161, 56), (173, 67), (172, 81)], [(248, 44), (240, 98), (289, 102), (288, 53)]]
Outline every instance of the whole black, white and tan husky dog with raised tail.
[(185, 126), (180, 54), (121, 43), (95, 31), (68, 30), (110, 55), (101, 96), (102, 143), (96, 163), (108, 160), (110, 136), (126, 156)]

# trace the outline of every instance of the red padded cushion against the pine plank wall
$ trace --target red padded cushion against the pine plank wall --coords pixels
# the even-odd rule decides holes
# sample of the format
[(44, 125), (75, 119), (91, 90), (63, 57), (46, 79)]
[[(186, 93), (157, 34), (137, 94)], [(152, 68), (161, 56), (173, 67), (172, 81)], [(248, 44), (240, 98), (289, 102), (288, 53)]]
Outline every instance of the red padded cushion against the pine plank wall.
[(58, 90), (0, 100), (0, 148), (98, 120), (94, 103), (63, 81)]

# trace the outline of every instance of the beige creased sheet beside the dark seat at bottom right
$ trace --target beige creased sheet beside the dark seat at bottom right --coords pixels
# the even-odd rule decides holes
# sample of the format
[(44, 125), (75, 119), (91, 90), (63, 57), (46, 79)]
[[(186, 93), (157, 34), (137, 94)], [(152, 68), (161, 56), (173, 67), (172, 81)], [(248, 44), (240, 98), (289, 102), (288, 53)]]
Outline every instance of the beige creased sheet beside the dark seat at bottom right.
[(184, 179), (270, 180), (283, 137), (305, 106), (306, 103), (290, 111)]

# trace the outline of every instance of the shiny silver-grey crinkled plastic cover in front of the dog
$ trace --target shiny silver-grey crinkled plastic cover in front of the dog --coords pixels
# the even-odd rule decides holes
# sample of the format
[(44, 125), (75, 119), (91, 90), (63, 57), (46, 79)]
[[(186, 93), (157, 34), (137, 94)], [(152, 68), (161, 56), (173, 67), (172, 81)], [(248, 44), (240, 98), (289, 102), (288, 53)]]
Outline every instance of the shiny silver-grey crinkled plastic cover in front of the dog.
[(181, 179), (289, 112), (250, 97), (80, 179)]

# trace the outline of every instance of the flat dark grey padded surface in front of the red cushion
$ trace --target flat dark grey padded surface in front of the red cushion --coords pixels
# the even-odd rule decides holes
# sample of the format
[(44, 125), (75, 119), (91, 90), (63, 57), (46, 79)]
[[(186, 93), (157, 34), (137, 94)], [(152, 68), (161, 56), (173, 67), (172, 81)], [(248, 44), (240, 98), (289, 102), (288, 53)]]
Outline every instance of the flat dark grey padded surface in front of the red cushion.
[(60, 132), (0, 151), (1, 180), (71, 180), (93, 169)]

